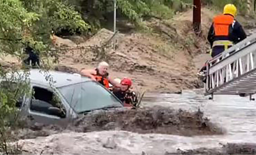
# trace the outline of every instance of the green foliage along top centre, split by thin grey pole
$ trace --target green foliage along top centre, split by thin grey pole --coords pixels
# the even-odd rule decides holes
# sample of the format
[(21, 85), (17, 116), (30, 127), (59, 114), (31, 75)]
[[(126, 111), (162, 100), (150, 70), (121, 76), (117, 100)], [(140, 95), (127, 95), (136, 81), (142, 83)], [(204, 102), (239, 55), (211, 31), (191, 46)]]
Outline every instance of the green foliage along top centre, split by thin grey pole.
[[(192, 0), (116, 0), (117, 9), (135, 24), (144, 17), (172, 18), (175, 11), (180, 11), (182, 5)], [(76, 9), (83, 13), (85, 21), (93, 28), (100, 28), (99, 20), (113, 11), (113, 0), (69, 0)]]

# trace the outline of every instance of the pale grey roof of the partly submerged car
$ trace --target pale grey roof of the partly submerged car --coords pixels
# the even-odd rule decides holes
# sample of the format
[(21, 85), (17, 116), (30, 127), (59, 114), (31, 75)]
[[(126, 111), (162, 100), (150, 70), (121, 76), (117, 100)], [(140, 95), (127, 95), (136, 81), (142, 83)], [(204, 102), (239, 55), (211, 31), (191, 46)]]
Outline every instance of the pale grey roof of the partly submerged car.
[[(20, 71), (19, 73), (25, 72)], [(52, 78), (53, 86), (56, 88), (81, 82), (92, 81), (90, 78), (80, 76), (80, 74), (71, 74), (53, 70), (43, 71), (40, 69), (31, 69), (29, 71), (28, 78), (30, 79), (31, 83), (50, 86), (49, 80), (46, 80), (47, 76), (50, 76), (50, 78)]]

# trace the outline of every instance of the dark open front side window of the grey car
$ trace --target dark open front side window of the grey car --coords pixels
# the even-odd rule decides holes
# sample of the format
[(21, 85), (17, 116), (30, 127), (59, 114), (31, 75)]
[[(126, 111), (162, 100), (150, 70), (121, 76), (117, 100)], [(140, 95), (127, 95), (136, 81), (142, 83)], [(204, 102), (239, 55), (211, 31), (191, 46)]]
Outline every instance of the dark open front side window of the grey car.
[(30, 110), (61, 118), (66, 117), (66, 110), (61, 99), (52, 91), (33, 86)]

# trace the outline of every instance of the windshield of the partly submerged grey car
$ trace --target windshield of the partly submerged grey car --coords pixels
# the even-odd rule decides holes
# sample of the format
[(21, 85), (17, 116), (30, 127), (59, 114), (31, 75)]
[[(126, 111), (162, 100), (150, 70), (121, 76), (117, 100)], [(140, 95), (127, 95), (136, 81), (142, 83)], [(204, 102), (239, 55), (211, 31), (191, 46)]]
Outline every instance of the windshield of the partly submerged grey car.
[(93, 109), (121, 107), (121, 102), (97, 82), (83, 82), (58, 88), (77, 113)]

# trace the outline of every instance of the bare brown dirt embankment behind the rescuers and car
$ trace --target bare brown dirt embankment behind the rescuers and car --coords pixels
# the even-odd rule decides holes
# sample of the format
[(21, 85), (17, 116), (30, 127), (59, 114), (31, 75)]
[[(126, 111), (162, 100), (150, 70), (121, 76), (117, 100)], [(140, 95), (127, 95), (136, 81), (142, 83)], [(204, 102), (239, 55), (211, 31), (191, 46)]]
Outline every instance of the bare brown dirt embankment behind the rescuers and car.
[(196, 72), (207, 58), (199, 60), (197, 66), (193, 58), (207, 51), (206, 34), (213, 14), (207, 9), (202, 10), (200, 37), (192, 31), (191, 14), (192, 10), (176, 15), (171, 20), (151, 19), (146, 22), (149, 33), (119, 33), (116, 50), (111, 47), (95, 48), (102, 47), (113, 35), (106, 29), (86, 41), (79, 41), (77, 45), (75, 41), (57, 37), (58, 46), (90, 47), (66, 51), (60, 55), (56, 69), (78, 72), (82, 68), (96, 67), (98, 62), (105, 60), (110, 64), (110, 76), (130, 77), (138, 89), (173, 93), (181, 89), (198, 88), (200, 84)]

